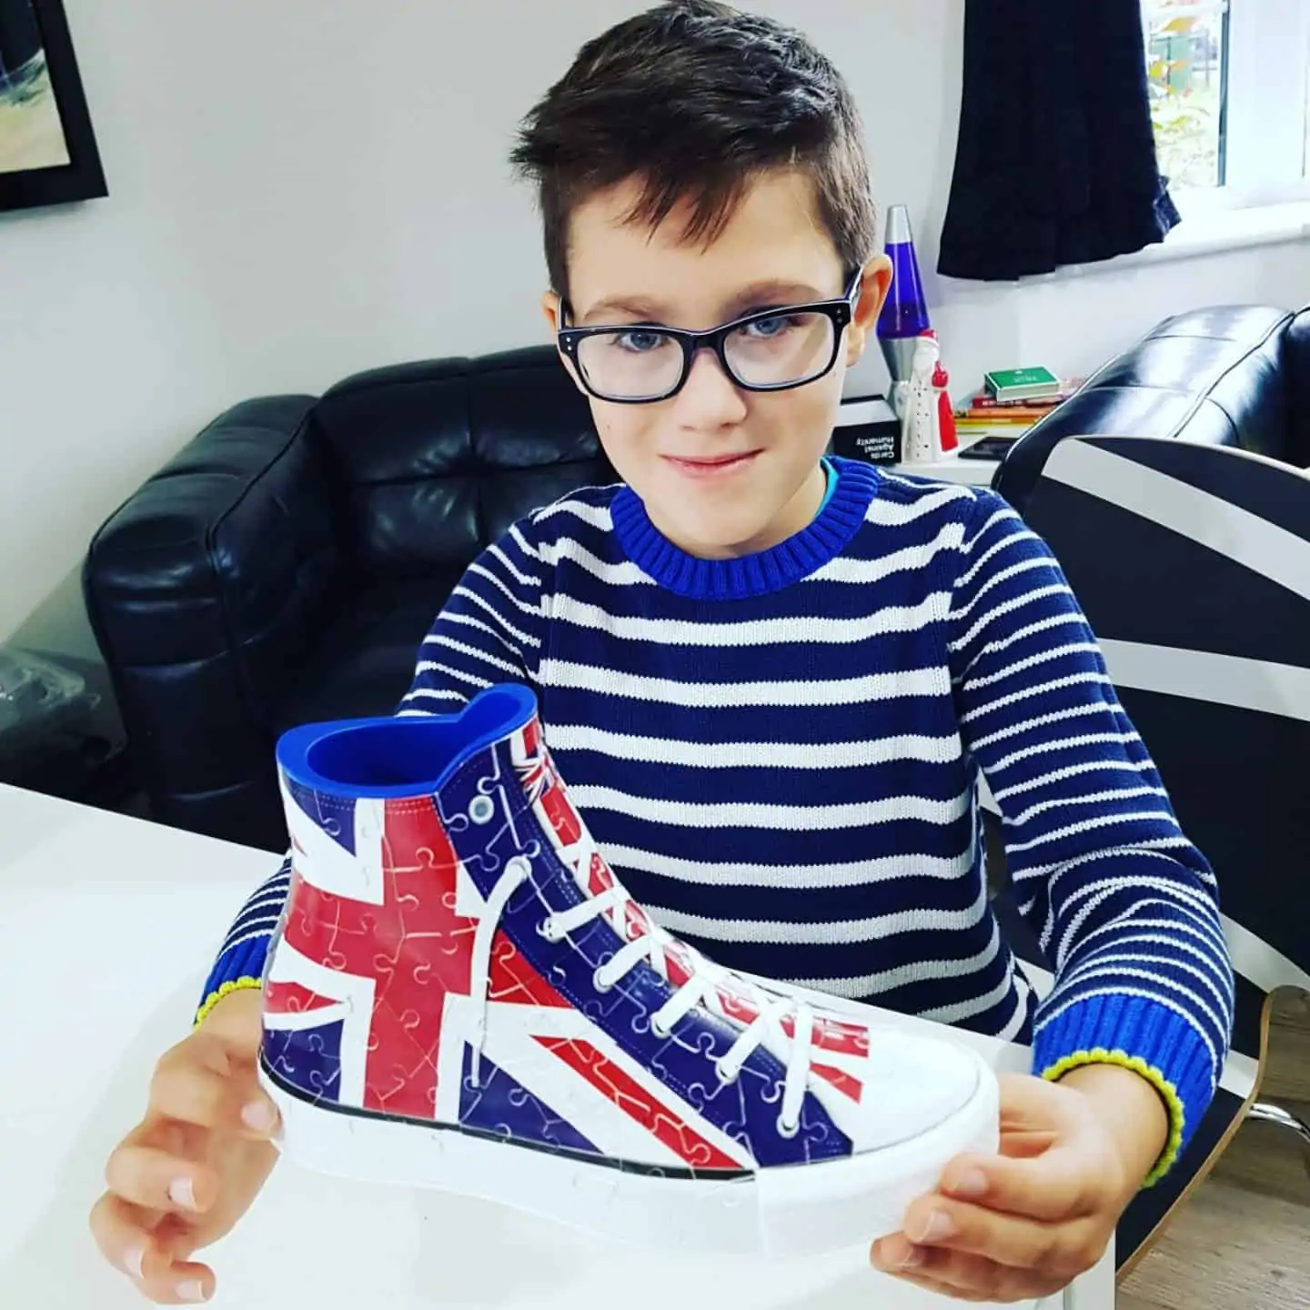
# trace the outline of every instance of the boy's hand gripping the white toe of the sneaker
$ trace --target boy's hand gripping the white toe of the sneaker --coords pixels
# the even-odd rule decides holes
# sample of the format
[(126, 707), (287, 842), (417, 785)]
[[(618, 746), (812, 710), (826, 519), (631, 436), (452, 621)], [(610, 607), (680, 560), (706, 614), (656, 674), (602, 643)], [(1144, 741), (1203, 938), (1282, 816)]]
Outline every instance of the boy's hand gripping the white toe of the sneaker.
[(1145, 1078), (1086, 1065), (1060, 1083), (1002, 1074), (1001, 1154), (960, 1155), (876, 1268), (964, 1301), (1052, 1296), (1104, 1254), (1165, 1148), (1169, 1116)]

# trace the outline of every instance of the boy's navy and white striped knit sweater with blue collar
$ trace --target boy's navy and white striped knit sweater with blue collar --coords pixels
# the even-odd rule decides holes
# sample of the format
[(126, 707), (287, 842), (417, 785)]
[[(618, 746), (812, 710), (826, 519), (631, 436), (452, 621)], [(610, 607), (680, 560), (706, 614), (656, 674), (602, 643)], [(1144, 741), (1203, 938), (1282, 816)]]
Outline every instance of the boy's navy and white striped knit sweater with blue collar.
[[(1115, 1060), (1171, 1110), (1158, 1176), (1226, 1055), (1214, 876), (1179, 831), (1082, 612), (997, 495), (837, 461), (811, 525), (688, 555), (626, 487), (584, 489), (470, 565), (398, 713), (520, 681), (607, 859), (720, 963)], [(1038, 1006), (988, 900), (979, 774), (1056, 986)], [(206, 1003), (257, 985), (284, 863)], [(203, 1014), (202, 1006), (202, 1014)]]

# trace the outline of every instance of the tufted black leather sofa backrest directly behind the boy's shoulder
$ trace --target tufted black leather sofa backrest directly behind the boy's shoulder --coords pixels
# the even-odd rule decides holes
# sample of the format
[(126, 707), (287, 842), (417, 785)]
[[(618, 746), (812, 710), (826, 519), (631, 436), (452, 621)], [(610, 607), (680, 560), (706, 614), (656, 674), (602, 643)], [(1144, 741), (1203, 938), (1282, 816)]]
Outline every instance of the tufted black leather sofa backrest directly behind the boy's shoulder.
[(614, 481), (586, 398), (550, 346), (348, 377), (310, 431), (364, 574), (457, 578), (524, 514)]

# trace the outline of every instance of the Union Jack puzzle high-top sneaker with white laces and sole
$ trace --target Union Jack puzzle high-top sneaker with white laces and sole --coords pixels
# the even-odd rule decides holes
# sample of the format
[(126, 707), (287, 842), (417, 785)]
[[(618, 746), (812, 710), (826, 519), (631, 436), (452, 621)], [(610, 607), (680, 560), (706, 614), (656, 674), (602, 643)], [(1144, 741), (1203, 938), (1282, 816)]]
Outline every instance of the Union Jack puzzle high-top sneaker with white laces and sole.
[(527, 688), (296, 728), (278, 768), (293, 874), (261, 1078), (290, 1158), (802, 1255), (899, 1229), (952, 1155), (996, 1150), (996, 1078), (947, 1030), (812, 1003), (655, 926)]

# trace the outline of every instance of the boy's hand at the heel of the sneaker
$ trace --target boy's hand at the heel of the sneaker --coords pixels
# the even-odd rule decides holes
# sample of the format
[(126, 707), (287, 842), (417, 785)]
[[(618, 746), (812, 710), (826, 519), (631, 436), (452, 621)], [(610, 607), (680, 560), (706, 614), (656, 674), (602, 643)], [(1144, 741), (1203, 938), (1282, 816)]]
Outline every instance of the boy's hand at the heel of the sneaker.
[(214, 1271), (190, 1256), (236, 1224), (276, 1162), (276, 1111), (255, 1077), (259, 1035), (259, 993), (224, 997), (160, 1060), (145, 1119), (109, 1158), (92, 1233), (152, 1301), (214, 1294)]

